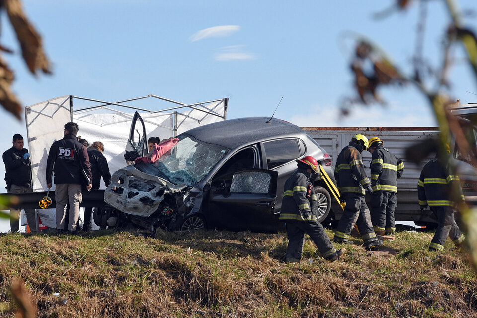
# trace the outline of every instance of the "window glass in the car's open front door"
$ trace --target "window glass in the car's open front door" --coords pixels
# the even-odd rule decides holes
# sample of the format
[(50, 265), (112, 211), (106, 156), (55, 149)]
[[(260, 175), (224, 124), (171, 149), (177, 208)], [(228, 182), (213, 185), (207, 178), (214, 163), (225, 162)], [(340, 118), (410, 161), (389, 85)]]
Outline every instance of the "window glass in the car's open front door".
[(272, 177), (267, 172), (239, 171), (234, 173), (231, 193), (270, 193)]

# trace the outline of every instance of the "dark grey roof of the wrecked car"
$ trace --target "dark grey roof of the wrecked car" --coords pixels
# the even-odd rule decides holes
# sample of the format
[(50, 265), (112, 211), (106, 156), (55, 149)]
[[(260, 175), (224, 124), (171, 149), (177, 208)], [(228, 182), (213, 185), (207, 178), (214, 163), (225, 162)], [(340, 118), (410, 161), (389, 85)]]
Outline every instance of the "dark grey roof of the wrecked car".
[(269, 117), (229, 119), (199, 126), (186, 131), (184, 134), (229, 149), (270, 137), (304, 134), (303, 130), (297, 125), (276, 118), (267, 123), (269, 119)]

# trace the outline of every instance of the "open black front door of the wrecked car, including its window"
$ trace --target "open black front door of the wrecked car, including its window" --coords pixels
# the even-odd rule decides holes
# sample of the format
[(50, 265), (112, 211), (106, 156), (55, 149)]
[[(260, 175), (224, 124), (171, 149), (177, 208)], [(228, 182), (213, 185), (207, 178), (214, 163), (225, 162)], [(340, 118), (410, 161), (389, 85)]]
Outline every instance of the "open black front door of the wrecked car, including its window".
[(209, 222), (233, 231), (276, 232), (274, 215), (278, 172), (247, 169), (229, 173), (211, 183)]

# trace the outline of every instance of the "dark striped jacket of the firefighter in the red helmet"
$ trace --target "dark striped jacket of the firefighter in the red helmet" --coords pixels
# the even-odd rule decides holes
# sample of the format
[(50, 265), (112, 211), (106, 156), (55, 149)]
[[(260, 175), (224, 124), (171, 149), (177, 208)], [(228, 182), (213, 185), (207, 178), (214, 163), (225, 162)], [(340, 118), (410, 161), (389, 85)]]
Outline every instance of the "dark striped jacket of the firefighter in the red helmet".
[[(310, 172), (298, 168), (285, 182), (280, 221), (317, 221), (318, 202), (310, 177)], [(310, 199), (308, 186), (311, 186)]]

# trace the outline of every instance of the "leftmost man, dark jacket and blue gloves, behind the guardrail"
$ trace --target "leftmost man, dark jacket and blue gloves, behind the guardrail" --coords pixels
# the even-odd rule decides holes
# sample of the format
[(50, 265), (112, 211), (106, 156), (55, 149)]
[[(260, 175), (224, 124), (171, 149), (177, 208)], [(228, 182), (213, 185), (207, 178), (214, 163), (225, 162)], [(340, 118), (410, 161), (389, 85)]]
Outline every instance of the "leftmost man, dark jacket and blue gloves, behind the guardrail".
[[(29, 193), (32, 190), (30, 153), (23, 148), (23, 136), (13, 135), (13, 146), (3, 153), (5, 181), (8, 193)], [(34, 209), (26, 209), (26, 219), (32, 232), (36, 232), (37, 221)], [(10, 231), (17, 232), (20, 227), (20, 211), (10, 210)]]

